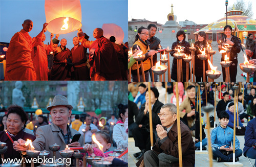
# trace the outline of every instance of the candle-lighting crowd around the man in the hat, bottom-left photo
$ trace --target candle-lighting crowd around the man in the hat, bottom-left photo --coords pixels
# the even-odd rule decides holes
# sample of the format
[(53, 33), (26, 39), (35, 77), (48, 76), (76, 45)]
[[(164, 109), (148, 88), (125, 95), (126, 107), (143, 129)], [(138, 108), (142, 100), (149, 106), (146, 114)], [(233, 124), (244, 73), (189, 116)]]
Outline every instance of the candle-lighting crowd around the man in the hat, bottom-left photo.
[[(37, 118), (34, 117), (30, 121), (22, 107), (12, 105), (7, 109), (7, 114), (1, 120), (0, 141), (6, 142), (8, 147), (4, 156), (6, 159), (21, 159), (22, 156), (26, 155), (26, 150), (31, 150), (32, 146), (25, 145), (26, 140), (31, 139), (35, 150), (50, 152), (49, 158), (53, 158), (53, 152), (49, 149), (49, 146), (54, 144), (60, 145), (60, 150), (65, 150), (66, 145), (68, 147), (84, 147), (87, 148), (87, 155), (94, 154), (108, 157), (108, 154), (113, 153), (115, 148), (127, 149), (128, 147), (128, 106), (127, 104), (119, 104), (118, 108), (119, 119), (112, 115), (108, 121), (104, 116), (98, 120), (97, 117), (86, 114), (84, 120), (79, 115), (75, 115), (75, 120), (72, 119), (73, 121), (71, 121), (73, 106), (68, 103), (66, 97), (57, 95), (54, 97), (52, 104), (47, 107), (52, 118), (49, 122), (43, 115), (38, 115)], [(6, 133), (10, 135), (14, 142), (10, 140)], [(80, 137), (77, 141), (71, 142), (77, 134), (80, 134)], [(102, 150), (92, 139), (93, 134), (103, 146)], [(63, 157), (59, 152), (56, 152), (55, 158)], [(119, 164), (118, 166), (127, 166), (127, 154), (122, 156), (121, 159), (109, 158), (108, 160), (112, 161), (111, 166), (117, 166), (117, 164)], [(73, 165), (81, 166), (83, 161), (80, 160), (80, 164), (73, 161)]]

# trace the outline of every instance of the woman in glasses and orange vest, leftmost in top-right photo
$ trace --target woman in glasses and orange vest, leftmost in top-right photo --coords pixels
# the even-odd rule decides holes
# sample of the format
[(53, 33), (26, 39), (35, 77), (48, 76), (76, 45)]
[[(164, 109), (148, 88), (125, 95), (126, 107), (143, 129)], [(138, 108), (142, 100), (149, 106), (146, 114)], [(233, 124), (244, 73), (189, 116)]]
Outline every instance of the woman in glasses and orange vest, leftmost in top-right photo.
[[(150, 57), (155, 55), (157, 51), (151, 50), (150, 52), (147, 52), (150, 50), (150, 47), (148, 44), (150, 42), (147, 41), (149, 34), (147, 28), (140, 27), (138, 29), (138, 34), (135, 37), (135, 43), (133, 44), (133, 53), (135, 53), (137, 50), (141, 50), (142, 54), (145, 55), (145, 59), (143, 60), (143, 67), (144, 71), (141, 71), (141, 64), (139, 63), (139, 74), (140, 74), (140, 81), (142, 81), (142, 73), (145, 73), (145, 80), (148, 82), (148, 70), (151, 68), (151, 60)], [(132, 67), (132, 78), (133, 81), (138, 81), (138, 76), (137, 76), (137, 65), (134, 64)]]

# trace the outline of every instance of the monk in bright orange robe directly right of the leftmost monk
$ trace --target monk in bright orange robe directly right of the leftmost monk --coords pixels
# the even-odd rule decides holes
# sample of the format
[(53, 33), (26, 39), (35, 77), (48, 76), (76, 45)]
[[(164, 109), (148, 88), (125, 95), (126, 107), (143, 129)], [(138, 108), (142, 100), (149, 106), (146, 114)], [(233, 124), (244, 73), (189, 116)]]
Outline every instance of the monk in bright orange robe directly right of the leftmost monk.
[(47, 55), (53, 51), (52, 38), (53, 33), (51, 33), (51, 44), (44, 44), (46, 40), (46, 35), (42, 34), (41, 42), (34, 46), (33, 52), (31, 54), (37, 81), (48, 81), (48, 59)]

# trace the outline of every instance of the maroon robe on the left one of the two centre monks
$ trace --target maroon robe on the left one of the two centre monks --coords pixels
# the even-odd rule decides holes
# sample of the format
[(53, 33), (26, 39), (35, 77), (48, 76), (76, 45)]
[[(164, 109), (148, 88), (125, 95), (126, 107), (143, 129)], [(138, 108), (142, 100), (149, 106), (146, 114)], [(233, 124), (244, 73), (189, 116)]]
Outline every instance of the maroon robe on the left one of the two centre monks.
[(53, 81), (67, 81), (71, 78), (71, 67), (66, 65), (64, 61), (71, 59), (71, 52), (69, 49), (63, 50), (53, 57), (53, 66), (51, 71), (51, 80)]

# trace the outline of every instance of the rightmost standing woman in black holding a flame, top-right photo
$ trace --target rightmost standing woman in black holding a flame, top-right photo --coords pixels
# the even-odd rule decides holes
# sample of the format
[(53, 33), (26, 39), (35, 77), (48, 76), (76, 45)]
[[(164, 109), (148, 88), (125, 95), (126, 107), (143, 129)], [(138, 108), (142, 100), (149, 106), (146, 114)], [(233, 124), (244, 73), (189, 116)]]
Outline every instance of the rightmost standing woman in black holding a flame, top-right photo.
[[(231, 26), (226, 25), (224, 27), (224, 33), (225, 33), (225, 37), (222, 38), (221, 43), (220, 45), (218, 45), (218, 47), (219, 47), (219, 51), (221, 51), (224, 43), (227, 43), (232, 46), (231, 49), (229, 50), (230, 52), (229, 61), (232, 61), (232, 64), (229, 66), (229, 74), (230, 74), (230, 81), (236, 82), (237, 71), (238, 71), (237, 69), (238, 53), (240, 53), (241, 51), (240, 42), (238, 37), (232, 35)], [(224, 61), (225, 55), (227, 55), (227, 53), (221, 54), (221, 61)], [(226, 71), (224, 67), (222, 67), (222, 77), (223, 77), (223, 81), (225, 81)]]

